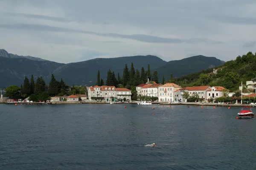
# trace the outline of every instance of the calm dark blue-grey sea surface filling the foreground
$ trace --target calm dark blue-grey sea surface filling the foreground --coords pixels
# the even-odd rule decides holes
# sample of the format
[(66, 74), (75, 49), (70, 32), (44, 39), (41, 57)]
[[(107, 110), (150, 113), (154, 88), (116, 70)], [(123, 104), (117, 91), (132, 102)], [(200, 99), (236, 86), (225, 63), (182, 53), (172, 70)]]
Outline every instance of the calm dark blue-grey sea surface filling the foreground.
[(2, 104), (0, 169), (255, 170), (256, 118), (240, 110)]

